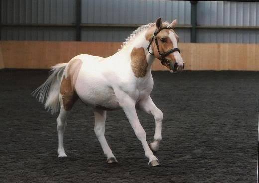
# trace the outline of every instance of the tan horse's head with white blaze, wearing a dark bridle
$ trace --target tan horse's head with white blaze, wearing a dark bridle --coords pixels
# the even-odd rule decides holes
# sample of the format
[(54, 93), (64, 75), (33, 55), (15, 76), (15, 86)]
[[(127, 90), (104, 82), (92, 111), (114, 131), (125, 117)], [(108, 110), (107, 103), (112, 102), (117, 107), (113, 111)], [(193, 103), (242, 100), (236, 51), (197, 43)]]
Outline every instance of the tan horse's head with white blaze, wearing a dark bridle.
[(176, 24), (177, 20), (169, 24), (162, 23), (161, 18), (158, 18), (155, 27), (146, 33), (146, 38), (150, 42), (148, 51), (151, 47), (153, 50), (151, 54), (158, 58), (171, 72), (179, 72), (184, 69), (184, 62), (178, 49), (179, 37), (173, 30)]

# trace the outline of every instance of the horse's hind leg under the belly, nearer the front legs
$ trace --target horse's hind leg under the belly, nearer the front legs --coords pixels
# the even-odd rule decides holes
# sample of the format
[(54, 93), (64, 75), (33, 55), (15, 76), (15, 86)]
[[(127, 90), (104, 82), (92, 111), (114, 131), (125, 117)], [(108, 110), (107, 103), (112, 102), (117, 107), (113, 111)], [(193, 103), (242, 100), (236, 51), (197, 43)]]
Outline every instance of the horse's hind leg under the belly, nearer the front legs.
[(104, 136), (105, 132), (105, 120), (106, 120), (106, 111), (94, 109), (95, 115), (95, 127), (94, 131), (98, 141), (100, 142), (102, 149), (104, 151), (105, 156), (107, 156), (107, 163), (117, 163), (115, 156), (112, 153), (109, 145)]

